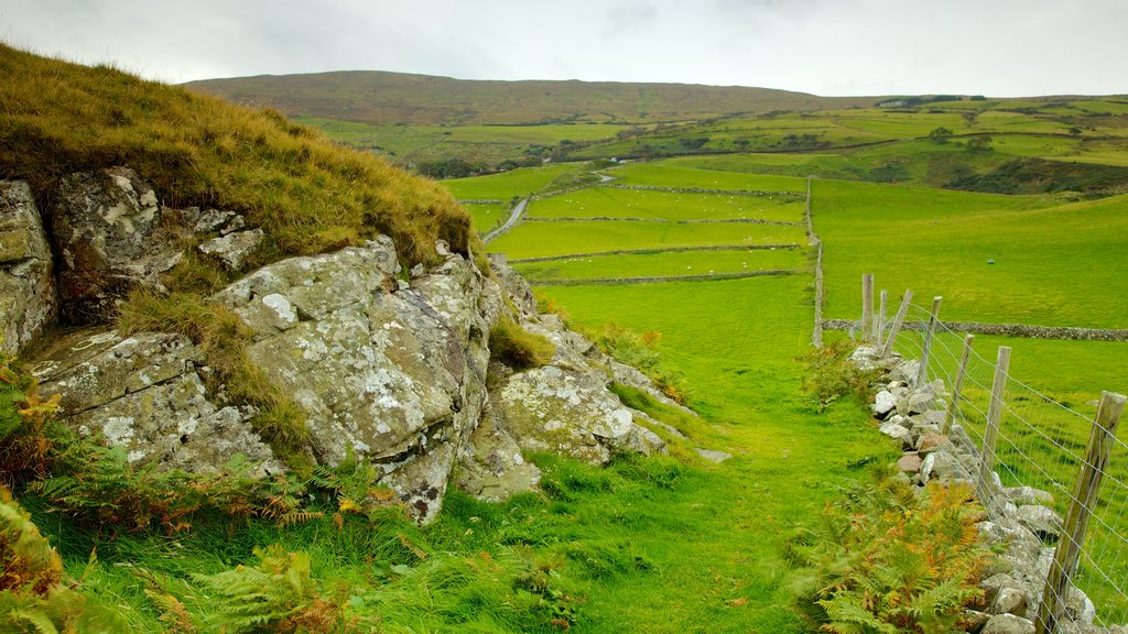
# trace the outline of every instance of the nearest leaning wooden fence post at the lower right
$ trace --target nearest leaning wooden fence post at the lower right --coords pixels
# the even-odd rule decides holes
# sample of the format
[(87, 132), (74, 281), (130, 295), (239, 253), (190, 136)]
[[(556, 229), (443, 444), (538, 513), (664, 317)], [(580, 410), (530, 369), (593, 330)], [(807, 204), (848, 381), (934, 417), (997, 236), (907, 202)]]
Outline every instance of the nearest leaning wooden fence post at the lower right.
[(1061, 608), (1068, 598), (1069, 578), (1077, 570), (1077, 558), (1081, 546), (1085, 541), (1085, 530), (1089, 518), (1096, 503), (1096, 494), (1104, 477), (1104, 467), (1116, 442), (1117, 425), (1123, 413), (1125, 397), (1120, 394), (1105, 391), (1101, 394), (1101, 404), (1096, 408), (1093, 431), (1089, 437), (1089, 450), (1085, 461), (1081, 464), (1077, 484), (1073, 490), (1073, 501), (1065, 516), (1061, 538), (1058, 540), (1054, 564), (1046, 578), (1046, 589), (1042, 591), (1042, 604), (1038, 608), (1038, 634), (1055, 634)]

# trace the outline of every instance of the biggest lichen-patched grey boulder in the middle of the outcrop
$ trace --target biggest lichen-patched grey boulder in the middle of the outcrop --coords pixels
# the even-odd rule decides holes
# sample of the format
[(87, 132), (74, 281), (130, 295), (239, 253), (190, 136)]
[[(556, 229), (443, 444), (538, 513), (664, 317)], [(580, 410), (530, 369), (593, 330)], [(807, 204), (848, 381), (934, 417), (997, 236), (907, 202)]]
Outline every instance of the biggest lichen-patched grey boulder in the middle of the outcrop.
[(318, 460), (372, 460), (426, 521), (481, 417), (501, 300), (458, 255), (408, 289), (398, 271), (382, 237), (276, 262), (212, 299), (253, 332), (249, 360), (302, 408)]

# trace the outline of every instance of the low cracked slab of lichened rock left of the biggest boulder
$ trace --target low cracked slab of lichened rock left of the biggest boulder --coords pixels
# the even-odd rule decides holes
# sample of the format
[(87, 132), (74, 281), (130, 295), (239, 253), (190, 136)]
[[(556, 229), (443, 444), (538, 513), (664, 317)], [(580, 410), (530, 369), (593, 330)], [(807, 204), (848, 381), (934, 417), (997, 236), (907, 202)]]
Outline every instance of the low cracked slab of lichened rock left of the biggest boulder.
[(253, 475), (281, 473), (250, 426), (254, 411), (209, 398), (203, 355), (182, 335), (79, 333), (54, 342), (35, 368), (43, 394), (61, 394), (61, 413), (81, 433), (100, 433), (131, 463), (210, 474), (236, 455)]

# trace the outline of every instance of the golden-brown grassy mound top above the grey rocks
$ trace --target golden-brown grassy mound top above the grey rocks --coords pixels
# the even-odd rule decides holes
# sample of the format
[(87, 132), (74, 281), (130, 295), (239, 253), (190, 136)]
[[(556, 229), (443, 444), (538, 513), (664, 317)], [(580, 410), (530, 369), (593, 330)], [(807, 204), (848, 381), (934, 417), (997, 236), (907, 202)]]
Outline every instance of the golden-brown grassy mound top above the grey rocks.
[(267, 234), (262, 257), (382, 232), (418, 262), (438, 238), (462, 253), (473, 239), (469, 215), (443, 188), (275, 111), (0, 44), (0, 178), (27, 179), (42, 197), (65, 174), (115, 165), (133, 167), (167, 205), (243, 213)]

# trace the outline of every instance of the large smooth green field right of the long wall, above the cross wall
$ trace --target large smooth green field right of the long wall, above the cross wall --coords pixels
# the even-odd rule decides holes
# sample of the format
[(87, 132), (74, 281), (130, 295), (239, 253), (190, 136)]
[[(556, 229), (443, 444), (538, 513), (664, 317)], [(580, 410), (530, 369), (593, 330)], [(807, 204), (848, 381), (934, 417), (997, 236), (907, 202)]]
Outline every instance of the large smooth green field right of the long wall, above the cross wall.
[(1116, 264), (1128, 229), (1123, 196), (1060, 204), (823, 180), (814, 191), (829, 317), (857, 314), (858, 280), (874, 273), (895, 297), (909, 288), (943, 296), (949, 319), (1128, 326)]

